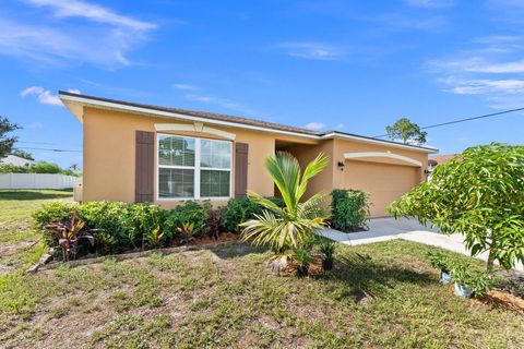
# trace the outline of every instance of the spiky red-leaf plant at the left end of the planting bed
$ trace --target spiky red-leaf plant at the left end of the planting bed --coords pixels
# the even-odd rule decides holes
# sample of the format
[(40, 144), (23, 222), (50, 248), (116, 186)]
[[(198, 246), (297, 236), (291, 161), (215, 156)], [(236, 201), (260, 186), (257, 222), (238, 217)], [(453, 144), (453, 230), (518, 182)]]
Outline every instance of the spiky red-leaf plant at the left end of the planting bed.
[(64, 261), (69, 261), (70, 256), (76, 256), (79, 242), (83, 239), (95, 243), (95, 237), (91, 230), (84, 229), (85, 221), (76, 218), (76, 210), (73, 210), (70, 220), (63, 222), (51, 222), (46, 226), (47, 232), (58, 238), (58, 244), (62, 249)]

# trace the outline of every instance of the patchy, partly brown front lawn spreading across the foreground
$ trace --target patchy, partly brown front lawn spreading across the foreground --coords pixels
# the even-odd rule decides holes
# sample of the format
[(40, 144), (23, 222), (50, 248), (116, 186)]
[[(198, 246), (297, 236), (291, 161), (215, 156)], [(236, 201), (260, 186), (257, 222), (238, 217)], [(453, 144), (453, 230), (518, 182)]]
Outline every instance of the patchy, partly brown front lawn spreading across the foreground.
[[(524, 316), (456, 298), (426, 252), (341, 246), (325, 278), (277, 277), (245, 244), (0, 281), (0, 342), (16, 348), (522, 348)], [(457, 258), (463, 256), (454, 255)]]

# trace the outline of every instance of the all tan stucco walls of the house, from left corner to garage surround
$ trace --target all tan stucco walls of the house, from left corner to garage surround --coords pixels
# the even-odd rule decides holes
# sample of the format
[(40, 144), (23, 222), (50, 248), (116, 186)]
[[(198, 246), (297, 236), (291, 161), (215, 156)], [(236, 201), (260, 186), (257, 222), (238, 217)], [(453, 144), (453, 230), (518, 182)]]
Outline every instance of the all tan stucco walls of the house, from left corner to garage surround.
[[(192, 124), (170, 118), (84, 107), (84, 201), (134, 201), (135, 132), (140, 130), (157, 133), (155, 123)], [(279, 144), (278, 148), (286, 149), (294, 154), (302, 167), (317, 157), (320, 152), (325, 153), (330, 157), (330, 165), (324, 171), (311, 180), (306, 193), (306, 198), (319, 191), (331, 192), (332, 189), (348, 188), (348, 185), (350, 185), (350, 183), (347, 183), (345, 171), (342, 171), (337, 166), (338, 161), (346, 163), (344, 153), (391, 152), (393, 154), (407, 156), (422, 164), (421, 168), (412, 172), (416, 177), (414, 182), (421, 182), (426, 177), (424, 174), (428, 160), (426, 153), (401, 149), (388, 145), (361, 143), (354, 140), (335, 139), (317, 141), (271, 132), (226, 128), (215, 124), (209, 125), (213, 129), (234, 133), (236, 135), (234, 142), (249, 144), (248, 189), (261, 195), (270, 196), (275, 194), (273, 181), (263, 168), (265, 157), (273, 155), (275, 152), (275, 143)], [(219, 135), (192, 131), (162, 131), (159, 133), (222, 139)], [(286, 144), (286, 146), (281, 146), (281, 144)], [(235, 155), (233, 159), (235, 161)], [(388, 163), (390, 160), (381, 159), (380, 161)], [(233, 170), (234, 169), (235, 164), (233, 164)], [(157, 196), (157, 166), (155, 161), (155, 197)], [(234, 179), (235, 176), (231, 173), (231, 181), (234, 181)], [(367, 180), (365, 174), (362, 174), (361, 180)], [(235, 183), (231, 185), (231, 195), (235, 192), (234, 185)], [(169, 208), (180, 202), (177, 200), (163, 200), (156, 203)], [(214, 204), (221, 205), (224, 204), (224, 201), (215, 201)]]

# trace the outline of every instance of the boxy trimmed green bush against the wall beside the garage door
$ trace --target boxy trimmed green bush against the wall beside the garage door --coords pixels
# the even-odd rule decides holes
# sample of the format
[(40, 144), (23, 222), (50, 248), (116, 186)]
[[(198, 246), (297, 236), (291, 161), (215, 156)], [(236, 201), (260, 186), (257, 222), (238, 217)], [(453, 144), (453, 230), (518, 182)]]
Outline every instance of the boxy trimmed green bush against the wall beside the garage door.
[(332, 192), (332, 226), (342, 231), (366, 227), (369, 216), (369, 195), (359, 190), (335, 189)]

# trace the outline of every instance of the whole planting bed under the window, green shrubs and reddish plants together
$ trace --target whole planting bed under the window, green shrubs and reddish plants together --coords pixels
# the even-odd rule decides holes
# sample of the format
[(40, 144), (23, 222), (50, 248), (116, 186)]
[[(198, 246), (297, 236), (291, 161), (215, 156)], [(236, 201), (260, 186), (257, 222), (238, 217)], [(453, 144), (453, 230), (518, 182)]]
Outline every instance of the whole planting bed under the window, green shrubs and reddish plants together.
[(218, 209), (194, 201), (172, 209), (148, 203), (90, 202), (44, 205), (33, 219), (53, 257), (68, 260), (231, 240), (231, 233), (240, 232), (238, 225), (259, 213), (261, 207), (248, 197), (231, 198)]

